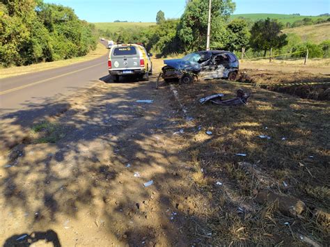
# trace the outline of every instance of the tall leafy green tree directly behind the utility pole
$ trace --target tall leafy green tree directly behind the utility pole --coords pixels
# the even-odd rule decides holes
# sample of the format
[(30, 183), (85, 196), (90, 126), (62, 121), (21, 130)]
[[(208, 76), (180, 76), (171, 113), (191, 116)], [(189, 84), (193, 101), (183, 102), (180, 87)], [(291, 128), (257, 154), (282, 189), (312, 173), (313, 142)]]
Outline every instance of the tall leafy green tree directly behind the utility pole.
[[(178, 36), (184, 49), (205, 49), (207, 38), (209, 0), (195, 0), (187, 3), (180, 19)], [(211, 44), (212, 49), (224, 47), (228, 43), (226, 22), (235, 10), (231, 0), (212, 1)]]

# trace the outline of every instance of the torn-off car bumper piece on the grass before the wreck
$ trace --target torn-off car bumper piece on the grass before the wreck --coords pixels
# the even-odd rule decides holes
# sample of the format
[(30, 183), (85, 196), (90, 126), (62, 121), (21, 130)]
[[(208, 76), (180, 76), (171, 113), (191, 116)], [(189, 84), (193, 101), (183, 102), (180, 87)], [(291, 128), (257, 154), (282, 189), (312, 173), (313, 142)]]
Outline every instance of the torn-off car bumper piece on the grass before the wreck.
[(237, 90), (237, 96), (234, 99), (222, 100), (222, 97), (214, 97), (215, 95), (210, 95), (200, 99), (199, 102), (201, 102), (201, 104), (205, 104), (206, 102), (210, 101), (221, 106), (242, 106), (247, 104), (247, 100), (249, 99), (250, 95), (251, 94), (244, 93), (242, 89), (239, 89)]

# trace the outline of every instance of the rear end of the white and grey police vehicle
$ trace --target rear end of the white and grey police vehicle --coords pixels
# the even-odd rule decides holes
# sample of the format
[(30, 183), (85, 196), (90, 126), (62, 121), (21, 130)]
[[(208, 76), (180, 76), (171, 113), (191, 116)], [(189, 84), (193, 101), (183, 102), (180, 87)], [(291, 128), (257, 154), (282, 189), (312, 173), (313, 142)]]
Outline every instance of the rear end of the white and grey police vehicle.
[[(143, 60), (143, 59), (142, 59)], [(111, 53), (111, 70), (123, 70), (129, 74), (132, 70), (141, 70), (144, 61), (141, 61), (138, 49), (134, 46), (114, 47)]]

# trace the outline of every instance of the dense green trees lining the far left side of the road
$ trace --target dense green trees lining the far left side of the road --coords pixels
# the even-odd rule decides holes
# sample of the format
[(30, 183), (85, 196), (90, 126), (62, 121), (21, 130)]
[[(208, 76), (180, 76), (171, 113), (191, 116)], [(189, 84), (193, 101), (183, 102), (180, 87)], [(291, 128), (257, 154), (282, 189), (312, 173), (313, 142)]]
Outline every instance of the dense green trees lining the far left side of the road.
[(72, 8), (33, 1), (1, 1), (0, 66), (31, 65), (85, 56), (97, 45), (93, 24)]

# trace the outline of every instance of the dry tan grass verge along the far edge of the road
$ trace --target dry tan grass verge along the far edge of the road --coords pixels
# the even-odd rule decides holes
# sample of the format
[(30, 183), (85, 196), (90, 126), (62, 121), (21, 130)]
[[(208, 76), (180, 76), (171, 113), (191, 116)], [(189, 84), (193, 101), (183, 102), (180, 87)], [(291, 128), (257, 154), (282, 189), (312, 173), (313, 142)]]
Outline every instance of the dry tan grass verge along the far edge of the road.
[(61, 61), (55, 61), (55, 62), (49, 62), (49, 63), (38, 63), (28, 66), (21, 66), (21, 67), (6, 67), (6, 68), (0, 68), (0, 79), (6, 78), (6, 77), (14, 77), (21, 74), (28, 74), (31, 72), (38, 72), (42, 70), (50, 70), (54, 69), (56, 67), (63, 67), (66, 65), (72, 65), (73, 63), (81, 63), (84, 61), (92, 60), (94, 58), (98, 58), (99, 56), (102, 56), (107, 53), (107, 49), (104, 47), (104, 45), (98, 43), (97, 47), (94, 51), (91, 51), (86, 56), (80, 56), (77, 58), (71, 58), (67, 60), (61, 60)]

